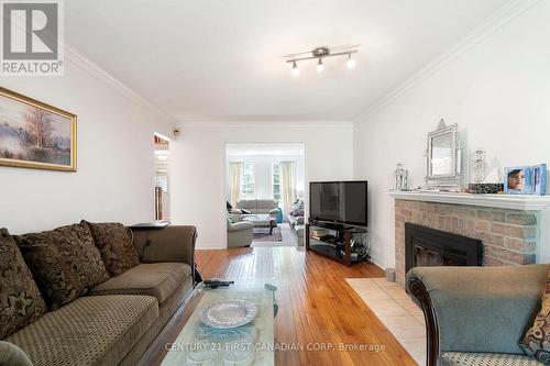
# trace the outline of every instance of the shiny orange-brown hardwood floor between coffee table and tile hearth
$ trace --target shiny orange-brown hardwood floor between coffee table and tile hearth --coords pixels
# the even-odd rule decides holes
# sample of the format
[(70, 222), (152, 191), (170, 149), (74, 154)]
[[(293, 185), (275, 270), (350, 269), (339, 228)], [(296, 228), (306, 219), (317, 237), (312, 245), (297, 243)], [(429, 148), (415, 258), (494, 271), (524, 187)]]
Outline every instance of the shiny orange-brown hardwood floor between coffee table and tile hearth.
[[(277, 365), (416, 365), (392, 333), (348, 285), (345, 278), (383, 277), (378, 267), (346, 267), (295, 247), (197, 251), (205, 279), (275, 278), (288, 284), (277, 319), (277, 343), (304, 346), (276, 352)], [(340, 351), (341, 345), (380, 351)], [(332, 350), (307, 350), (307, 347)]]

